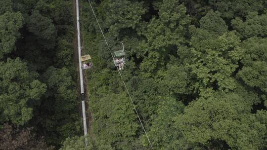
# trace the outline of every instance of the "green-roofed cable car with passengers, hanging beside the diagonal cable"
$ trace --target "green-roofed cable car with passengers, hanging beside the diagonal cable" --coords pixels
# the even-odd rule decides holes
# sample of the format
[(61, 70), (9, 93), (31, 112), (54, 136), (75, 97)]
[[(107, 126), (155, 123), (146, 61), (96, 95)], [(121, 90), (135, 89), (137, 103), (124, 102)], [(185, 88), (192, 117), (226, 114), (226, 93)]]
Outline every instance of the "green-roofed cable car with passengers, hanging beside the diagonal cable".
[(125, 65), (125, 52), (124, 52), (124, 44), (121, 41), (123, 49), (117, 50), (114, 52), (113, 61), (116, 67), (119, 67), (119, 70), (123, 70), (123, 67)]

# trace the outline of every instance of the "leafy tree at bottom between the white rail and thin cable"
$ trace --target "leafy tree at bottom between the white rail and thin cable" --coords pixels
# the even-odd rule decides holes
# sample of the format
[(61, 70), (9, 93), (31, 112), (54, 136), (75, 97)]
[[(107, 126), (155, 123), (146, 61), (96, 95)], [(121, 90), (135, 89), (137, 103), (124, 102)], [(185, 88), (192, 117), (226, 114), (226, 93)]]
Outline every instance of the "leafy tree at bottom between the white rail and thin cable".
[[(136, 115), (126, 94), (104, 94), (92, 97), (90, 102), (94, 114), (93, 130), (99, 140), (104, 140), (114, 149), (135, 150), (141, 143), (136, 142), (139, 130)], [(98, 103), (93, 103), (98, 101)]]

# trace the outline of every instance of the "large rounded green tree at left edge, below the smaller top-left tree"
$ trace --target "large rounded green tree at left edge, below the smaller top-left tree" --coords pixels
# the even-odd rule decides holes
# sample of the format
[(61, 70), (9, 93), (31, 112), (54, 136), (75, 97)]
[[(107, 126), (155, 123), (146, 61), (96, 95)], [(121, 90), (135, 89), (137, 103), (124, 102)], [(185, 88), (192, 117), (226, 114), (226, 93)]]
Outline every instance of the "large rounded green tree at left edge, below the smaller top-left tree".
[(37, 77), (19, 58), (0, 62), (0, 122), (23, 125), (33, 117), (33, 109), (46, 91)]

